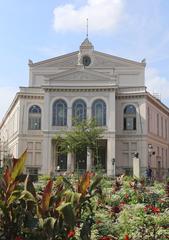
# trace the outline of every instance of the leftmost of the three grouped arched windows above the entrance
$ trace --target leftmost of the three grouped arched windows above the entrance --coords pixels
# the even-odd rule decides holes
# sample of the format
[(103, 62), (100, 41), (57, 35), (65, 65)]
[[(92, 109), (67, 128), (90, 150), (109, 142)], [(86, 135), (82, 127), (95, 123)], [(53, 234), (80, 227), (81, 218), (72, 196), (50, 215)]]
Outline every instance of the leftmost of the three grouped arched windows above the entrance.
[(67, 104), (59, 99), (53, 104), (53, 126), (67, 125)]

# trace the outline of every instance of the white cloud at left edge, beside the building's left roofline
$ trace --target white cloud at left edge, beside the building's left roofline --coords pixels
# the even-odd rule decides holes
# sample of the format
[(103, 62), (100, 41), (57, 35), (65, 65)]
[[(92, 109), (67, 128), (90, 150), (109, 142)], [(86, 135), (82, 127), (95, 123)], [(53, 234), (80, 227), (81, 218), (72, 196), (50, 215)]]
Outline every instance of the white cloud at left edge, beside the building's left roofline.
[(0, 87), (0, 122), (9, 109), (17, 91), (18, 88), (16, 87)]

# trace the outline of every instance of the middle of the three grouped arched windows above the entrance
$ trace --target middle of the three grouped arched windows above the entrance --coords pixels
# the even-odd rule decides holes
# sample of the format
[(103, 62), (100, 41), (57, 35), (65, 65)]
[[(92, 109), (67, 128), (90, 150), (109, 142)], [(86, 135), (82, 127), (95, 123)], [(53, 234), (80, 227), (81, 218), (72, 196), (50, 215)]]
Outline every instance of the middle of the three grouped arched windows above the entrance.
[(86, 119), (86, 103), (83, 100), (78, 99), (73, 103), (72, 117), (73, 125)]

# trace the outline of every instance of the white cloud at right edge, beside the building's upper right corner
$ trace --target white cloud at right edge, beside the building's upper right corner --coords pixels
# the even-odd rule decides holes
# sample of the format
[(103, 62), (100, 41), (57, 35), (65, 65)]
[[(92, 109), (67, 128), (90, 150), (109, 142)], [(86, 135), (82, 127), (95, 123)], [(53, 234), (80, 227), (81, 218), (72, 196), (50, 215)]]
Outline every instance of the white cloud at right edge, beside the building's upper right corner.
[(160, 94), (162, 100), (169, 99), (169, 81), (165, 77), (161, 77), (156, 69), (147, 68), (146, 86), (147, 90), (152, 94)]

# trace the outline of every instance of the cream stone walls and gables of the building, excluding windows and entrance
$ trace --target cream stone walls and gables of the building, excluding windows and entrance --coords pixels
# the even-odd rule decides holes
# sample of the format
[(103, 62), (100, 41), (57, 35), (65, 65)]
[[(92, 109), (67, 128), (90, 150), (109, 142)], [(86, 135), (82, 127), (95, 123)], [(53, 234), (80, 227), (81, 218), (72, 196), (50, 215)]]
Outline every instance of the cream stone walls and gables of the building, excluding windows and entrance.
[[(84, 55), (91, 58), (88, 67), (82, 64)], [(15, 157), (27, 148), (26, 167), (33, 166), (42, 173), (50, 173), (55, 167), (52, 139), (58, 131), (71, 129), (73, 102), (83, 99), (90, 118), (92, 103), (102, 99), (107, 108), (104, 134), (107, 140), (107, 174), (113, 172), (114, 158), (117, 167), (132, 167), (136, 151), (139, 152), (141, 167), (146, 168), (148, 144), (152, 144), (157, 153), (152, 156), (152, 167), (157, 168), (160, 161), (161, 166), (169, 168), (169, 111), (154, 98), (147, 100), (144, 73), (144, 62), (95, 51), (88, 39), (82, 43), (80, 51), (38, 63), (29, 61), (29, 87), (20, 88), (17, 101), (10, 107), (0, 127), (1, 148), (2, 143), (6, 144), (5, 147)], [(52, 105), (57, 99), (65, 100), (68, 106), (66, 127), (52, 126)], [(133, 131), (123, 129), (123, 112), (128, 104), (134, 105), (137, 112), (137, 128)], [(28, 130), (28, 112), (32, 105), (41, 108), (41, 130)], [(70, 166), (71, 161), (69, 154)], [(88, 168), (89, 165), (90, 162), (87, 163)]]

